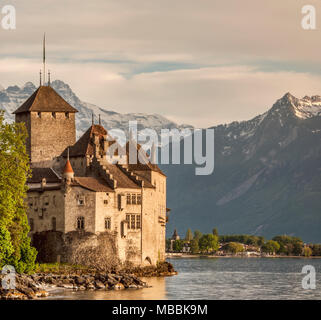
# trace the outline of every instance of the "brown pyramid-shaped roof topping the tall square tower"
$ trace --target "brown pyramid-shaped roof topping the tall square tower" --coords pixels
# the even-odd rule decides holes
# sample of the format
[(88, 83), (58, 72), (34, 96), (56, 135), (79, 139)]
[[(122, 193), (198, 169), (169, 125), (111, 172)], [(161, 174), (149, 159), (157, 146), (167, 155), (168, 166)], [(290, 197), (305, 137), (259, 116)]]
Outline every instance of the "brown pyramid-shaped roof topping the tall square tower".
[(40, 86), (19, 107), (14, 114), (38, 111), (38, 112), (78, 112), (67, 101), (65, 101), (53, 88)]

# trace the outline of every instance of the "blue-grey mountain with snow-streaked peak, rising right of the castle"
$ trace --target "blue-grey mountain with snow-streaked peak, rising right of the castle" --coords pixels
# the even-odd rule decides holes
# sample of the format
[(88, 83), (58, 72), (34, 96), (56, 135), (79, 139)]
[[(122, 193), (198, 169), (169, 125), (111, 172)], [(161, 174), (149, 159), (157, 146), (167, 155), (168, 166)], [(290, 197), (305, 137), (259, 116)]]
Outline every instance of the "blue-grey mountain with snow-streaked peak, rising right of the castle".
[(212, 175), (196, 176), (195, 164), (161, 166), (168, 235), (216, 227), (321, 242), (321, 97), (287, 93), (262, 115), (213, 128)]

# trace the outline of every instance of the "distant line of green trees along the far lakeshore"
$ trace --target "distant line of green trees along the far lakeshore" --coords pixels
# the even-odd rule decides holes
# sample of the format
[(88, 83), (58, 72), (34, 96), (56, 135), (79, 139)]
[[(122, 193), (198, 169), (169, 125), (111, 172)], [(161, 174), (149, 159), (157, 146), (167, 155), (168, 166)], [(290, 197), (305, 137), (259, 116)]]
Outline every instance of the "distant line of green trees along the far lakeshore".
[(216, 228), (211, 234), (202, 234), (199, 230), (188, 229), (184, 239), (166, 240), (166, 250), (182, 252), (184, 245), (190, 248), (192, 254), (216, 253), (218, 251), (230, 254), (244, 251), (257, 251), (269, 255), (287, 256), (321, 256), (321, 244), (304, 244), (302, 239), (288, 235), (279, 235), (271, 240), (262, 236), (247, 234), (219, 235)]

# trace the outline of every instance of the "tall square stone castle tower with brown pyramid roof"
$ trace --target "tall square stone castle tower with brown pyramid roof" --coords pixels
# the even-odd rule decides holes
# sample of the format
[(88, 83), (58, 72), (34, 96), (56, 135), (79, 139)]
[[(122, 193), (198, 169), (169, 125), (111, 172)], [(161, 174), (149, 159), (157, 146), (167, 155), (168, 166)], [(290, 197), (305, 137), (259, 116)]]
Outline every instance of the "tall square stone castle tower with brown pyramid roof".
[(76, 142), (75, 113), (52, 87), (40, 86), (15, 112), (16, 122), (26, 125), (31, 166), (48, 167)]

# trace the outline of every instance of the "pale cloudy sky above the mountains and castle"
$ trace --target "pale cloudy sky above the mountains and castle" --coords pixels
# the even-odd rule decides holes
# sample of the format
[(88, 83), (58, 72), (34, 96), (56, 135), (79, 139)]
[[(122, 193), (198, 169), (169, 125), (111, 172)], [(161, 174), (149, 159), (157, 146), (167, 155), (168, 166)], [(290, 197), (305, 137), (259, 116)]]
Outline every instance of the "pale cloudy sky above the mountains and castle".
[[(253, 118), (286, 92), (321, 95), (319, 0), (0, 0), (0, 85), (52, 80), (120, 113), (209, 127)], [(303, 30), (301, 9), (316, 9)], [(0, 19), (2, 15), (0, 13)], [(320, 20), (320, 22), (319, 22)]]

